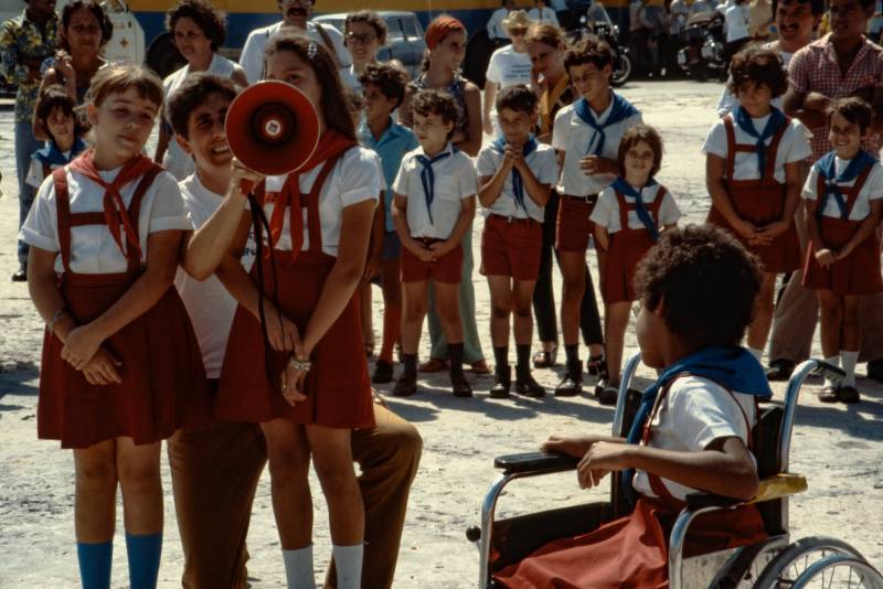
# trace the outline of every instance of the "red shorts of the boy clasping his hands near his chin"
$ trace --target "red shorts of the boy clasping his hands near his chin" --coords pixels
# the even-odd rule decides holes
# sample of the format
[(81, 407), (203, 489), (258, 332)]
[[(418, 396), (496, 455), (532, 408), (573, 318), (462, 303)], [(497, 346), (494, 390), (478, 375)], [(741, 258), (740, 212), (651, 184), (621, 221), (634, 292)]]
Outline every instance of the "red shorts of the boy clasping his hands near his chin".
[(543, 247), (543, 224), (532, 218), (488, 215), (481, 234), (481, 274), (536, 280)]

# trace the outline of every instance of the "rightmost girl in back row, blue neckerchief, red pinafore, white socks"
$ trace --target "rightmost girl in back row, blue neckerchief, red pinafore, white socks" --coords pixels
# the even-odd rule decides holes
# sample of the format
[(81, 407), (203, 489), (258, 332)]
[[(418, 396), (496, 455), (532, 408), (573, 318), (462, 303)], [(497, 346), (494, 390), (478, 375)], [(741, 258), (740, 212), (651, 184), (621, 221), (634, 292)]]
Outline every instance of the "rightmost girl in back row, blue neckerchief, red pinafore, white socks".
[(861, 142), (871, 130), (873, 110), (860, 98), (831, 105), (828, 138), (833, 151), (816, 162), (804, 188), (807, 248), (804, 286), (816, 290), (821, 307), (825, 361), (842, 362), (840, 386), (826, 381), (819, 399), (857, 403), (860, 303), (883, 290), (876, 228), (883, 212), (883, 167)]

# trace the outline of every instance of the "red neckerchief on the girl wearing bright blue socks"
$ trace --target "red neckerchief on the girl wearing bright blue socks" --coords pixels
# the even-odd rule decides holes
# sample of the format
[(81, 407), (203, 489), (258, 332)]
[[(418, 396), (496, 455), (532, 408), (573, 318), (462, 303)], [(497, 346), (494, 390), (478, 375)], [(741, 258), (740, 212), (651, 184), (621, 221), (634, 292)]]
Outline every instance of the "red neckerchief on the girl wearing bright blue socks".
[[(124, 256), (128, 257), (134, 254), (137, 255), (137, 259), (140, 259), (141, 244), (138, 240), (138, 234), (135, 232), (135, 227), (131, 225), (129, 213), (126, 210), (126, 203), (123, 202), (123, 195), (120, 195), (119, 191), (129, 182), (145, 175), (156, 164), (152, 160), (139, 153), (127, 161), (116, 179), (108, 184), (95, 168), (94, 156), (95, 150), (91, 149), (72, 161), (68, 168), (72, 172), (79, 172), (104, 189), (104, 219), (105, 223), (107, 223), (107, 228), (110, 229), (110, 235), (114, 236), (114, 240), (117, 243)], [(123, 247), (123, 236), (119, 232), (120, 225), (123, 225), (126, 232), (126, 248)], [(129, 254), (126, 253), (127, 248), (129, 249)]]

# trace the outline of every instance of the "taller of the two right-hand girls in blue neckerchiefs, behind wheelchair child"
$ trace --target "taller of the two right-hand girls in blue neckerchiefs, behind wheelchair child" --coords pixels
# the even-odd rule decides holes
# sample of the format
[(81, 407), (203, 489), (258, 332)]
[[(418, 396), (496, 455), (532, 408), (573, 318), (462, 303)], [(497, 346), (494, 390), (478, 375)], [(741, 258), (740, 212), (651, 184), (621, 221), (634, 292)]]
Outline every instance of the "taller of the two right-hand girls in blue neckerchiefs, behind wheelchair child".
[(712, 200), (708, 221), (760, 258), (764, 280), (748, 328), (748, 350), (759, 358), (773, 322), (776, 275), (800, 267), (792, 221), (800, 164), (812, 151), (806, 128), (770, 104), (788, 88), (775, 52), (749, 47), (737, 53), (728, 84), (742, 104), (714, 124), (702, 146)]

